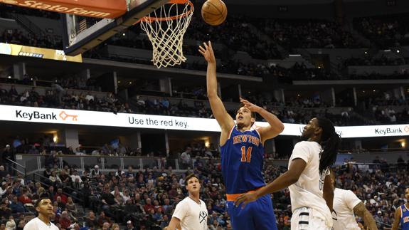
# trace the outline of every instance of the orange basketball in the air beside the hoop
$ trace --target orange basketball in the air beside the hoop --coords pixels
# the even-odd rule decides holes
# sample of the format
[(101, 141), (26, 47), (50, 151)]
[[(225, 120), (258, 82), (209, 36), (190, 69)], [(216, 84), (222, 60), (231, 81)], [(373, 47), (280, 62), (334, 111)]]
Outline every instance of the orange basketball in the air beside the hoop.
[(227, 17), (227, 7), (221, 0), (207, 0), (202, 6), (203, 21), (211, 26), (218, 26)]

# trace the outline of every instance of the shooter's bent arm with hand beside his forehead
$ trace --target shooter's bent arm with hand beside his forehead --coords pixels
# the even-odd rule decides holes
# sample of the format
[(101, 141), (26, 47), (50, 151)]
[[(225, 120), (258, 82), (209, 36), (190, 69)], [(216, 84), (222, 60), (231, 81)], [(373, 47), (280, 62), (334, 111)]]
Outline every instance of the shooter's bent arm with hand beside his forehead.
[(261, 108), (260, 106), (250, 103), (248, 100), (240, 98), (240, 102), (248, 108), (251, 112), (258, 113), (268, 122), (269, 125), (266, 127), (260, 127), (257, 131), (260, 133), (261, 142), (264, 144), (266, 140), (276, 137), (284, 130), (284, 125), (281, 120), (279, 120), (274, 114), (268, 112), (267, 110)]

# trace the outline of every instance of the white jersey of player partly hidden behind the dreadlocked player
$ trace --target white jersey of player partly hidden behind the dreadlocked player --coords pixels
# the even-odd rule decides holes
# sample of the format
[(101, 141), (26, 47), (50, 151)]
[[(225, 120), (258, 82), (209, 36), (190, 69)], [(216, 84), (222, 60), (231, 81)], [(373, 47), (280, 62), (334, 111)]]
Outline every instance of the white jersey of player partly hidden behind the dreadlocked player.
[(360, 230), (354, 216), (354, 207), (360, 202), (361, 200), (351, 190), (334, 190), (333, 207), (336, 212), (334, 230)]

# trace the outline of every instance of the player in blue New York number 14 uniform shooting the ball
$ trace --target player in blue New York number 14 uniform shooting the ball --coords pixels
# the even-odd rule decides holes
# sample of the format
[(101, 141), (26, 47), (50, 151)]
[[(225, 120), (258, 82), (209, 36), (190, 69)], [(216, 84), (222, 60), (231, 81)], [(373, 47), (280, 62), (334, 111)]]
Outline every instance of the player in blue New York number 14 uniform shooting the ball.
[[(257, 202), (249, 204), (245, 209), (235, 207), (233, 202), (240, 194), (265, 186), (262, 177), (264, 143), (279, 135), (284, 130), (284, 125), (272, 113), (243, 98), (240, 98), (242, 105), (237, 110), (235, 122), (217, 95), (216, 58), (211, 42), (203, 43), (203, 46), (199, 46), (199, 52), (208, 62), (206, 75), (208, 100), (213, 115), (221, 126), (222, 174), (227, 192), (227, 211), (233, 229), (277, 229), (270, 195), (260, 197)], [(255, 113), (261, 115), (269, 125), (252, 129)]]

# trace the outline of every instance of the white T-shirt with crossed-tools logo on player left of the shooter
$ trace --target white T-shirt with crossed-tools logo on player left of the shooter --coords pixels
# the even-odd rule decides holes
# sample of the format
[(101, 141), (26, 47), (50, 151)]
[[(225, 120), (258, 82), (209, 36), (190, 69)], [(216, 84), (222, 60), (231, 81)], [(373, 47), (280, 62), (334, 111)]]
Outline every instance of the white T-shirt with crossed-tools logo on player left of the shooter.
[(182, 230), (208, 230), (207, 207), (200, 199), (201, 204), (196, 203), (190, 197), (186, 197), (179, 204), (172, 217), (181, 221)]

